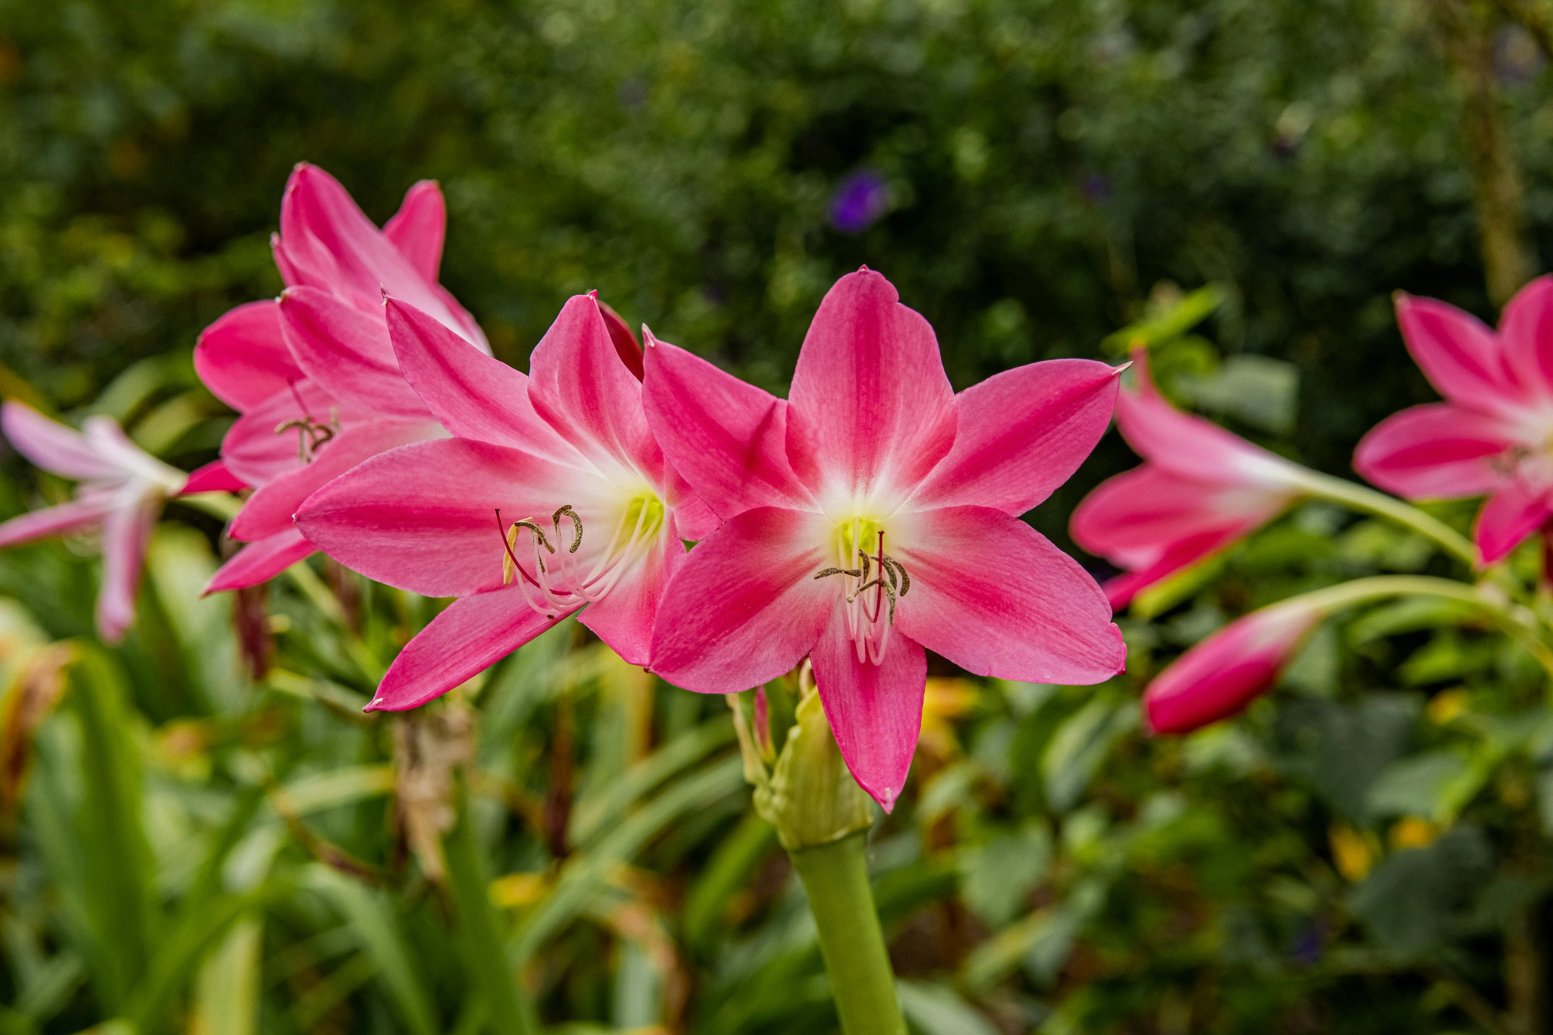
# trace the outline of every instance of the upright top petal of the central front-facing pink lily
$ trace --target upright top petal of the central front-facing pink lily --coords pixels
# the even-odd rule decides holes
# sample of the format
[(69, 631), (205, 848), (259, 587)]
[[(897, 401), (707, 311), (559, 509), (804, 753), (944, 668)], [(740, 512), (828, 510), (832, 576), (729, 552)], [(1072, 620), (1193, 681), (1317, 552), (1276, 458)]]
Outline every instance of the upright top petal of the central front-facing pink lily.
[(787, 456), (818, 500), (898, 501), (955, 441), (955, 396), (933, 329), (867, 267), (820, 303), (787, 400)]

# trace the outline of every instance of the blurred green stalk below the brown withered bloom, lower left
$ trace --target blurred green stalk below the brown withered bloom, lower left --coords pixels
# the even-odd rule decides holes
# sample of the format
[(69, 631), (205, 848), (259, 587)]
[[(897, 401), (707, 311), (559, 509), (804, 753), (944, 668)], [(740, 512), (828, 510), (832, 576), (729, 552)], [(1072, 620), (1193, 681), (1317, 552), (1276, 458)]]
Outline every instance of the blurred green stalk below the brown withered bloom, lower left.
[(534, 1006), (506, 964), (480, 844), (469, 816), (469, 788), (463, 773), (455, 776), (453, 798), (458, 826), (443, 839), (443, 855), (447, 860), (447, 883), (458, 909), (469, 965), (485, 995), (488, 1026), (497, 1035), (537, 1035)]

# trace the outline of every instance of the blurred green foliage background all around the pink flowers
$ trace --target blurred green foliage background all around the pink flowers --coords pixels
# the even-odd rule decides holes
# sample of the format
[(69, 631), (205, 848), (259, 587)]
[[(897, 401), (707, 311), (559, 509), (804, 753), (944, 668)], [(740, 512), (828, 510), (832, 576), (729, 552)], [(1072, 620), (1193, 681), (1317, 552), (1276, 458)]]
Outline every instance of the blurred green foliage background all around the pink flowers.
[[(1527, 48), (1506, 28), (1496, 53), (1541, 239), (1553, 95)], [(0, 0), (0, 393), (208, 459), (230, 414), (189, 351), (278, 290), (303, 158), (377, 219), (439, 178), (444, 282), (516, 365), (596, 287), (781, 389), (867, 262), (960, 386), (1141, 326), (1177, 402), (1346, 472), (1430, 397), (1390, 292), (1491, 315), (1421, 0)], [(859, 171), (887, 203), (843, 233)], [(1159, 323), (1208, 284), (1207, 324)], [(1065, 542), (1131, 462), (1107, 439), (1033, 521)], [(12, 458), (0, 511), (59, 490)], [(363, 717), (435, 602), (317, 559), (200, 601), (219, 531), (169, 511), (118, 649), (90, 641), (90, 549), (0, 556), (0, 1032), (828, 1030), (722, 701), (567, 624)], [(1230, 616), (1446, 566), (1312, 504), (1126, 619), (1112, 684), (935, 669), (871, 849), (915, 1029), (1547, 1024), (1553, 714), (1519, 649), (1376, 607), (1242, 720), (1138, 725), (1148, 677)]]

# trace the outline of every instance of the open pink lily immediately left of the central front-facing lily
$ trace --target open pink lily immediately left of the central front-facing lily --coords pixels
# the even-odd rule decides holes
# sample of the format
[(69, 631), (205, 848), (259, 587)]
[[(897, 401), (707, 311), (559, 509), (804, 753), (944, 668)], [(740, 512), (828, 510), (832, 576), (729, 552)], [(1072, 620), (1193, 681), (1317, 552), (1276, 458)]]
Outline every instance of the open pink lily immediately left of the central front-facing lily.
[(368, 709), (424, 704), (576, 611), (646, 664), (680, 537), (714, 518), (648, 431), (598, 299), (565, 304), (530, 376), (398, 298), (387, 320), (399, 369), (455, 438), (368, 459), (312, 493), (297, 526), (370, 579), (458, 601), (405, 646)]

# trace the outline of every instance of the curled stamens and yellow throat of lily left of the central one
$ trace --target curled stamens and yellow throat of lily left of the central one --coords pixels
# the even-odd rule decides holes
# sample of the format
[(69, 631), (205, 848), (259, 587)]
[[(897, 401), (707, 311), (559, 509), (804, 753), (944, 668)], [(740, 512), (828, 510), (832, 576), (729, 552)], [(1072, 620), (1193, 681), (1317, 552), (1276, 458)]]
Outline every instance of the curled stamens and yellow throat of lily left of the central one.
[(540, 520), (503, 521), (502, 511), (495, 511), (502, 535), (502, 585), (516, 582), (523, 601), (553, 619), (604, 599), (657, 542), (665, 511), (662, 500), (651, 492), (632, 497), (621, 509), (609, 542), (596, 551), (582, 551), (582, 517), (570, 503), (550, 515), (548, 528)]

